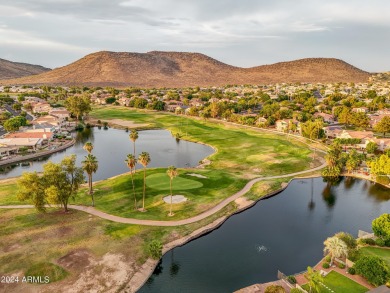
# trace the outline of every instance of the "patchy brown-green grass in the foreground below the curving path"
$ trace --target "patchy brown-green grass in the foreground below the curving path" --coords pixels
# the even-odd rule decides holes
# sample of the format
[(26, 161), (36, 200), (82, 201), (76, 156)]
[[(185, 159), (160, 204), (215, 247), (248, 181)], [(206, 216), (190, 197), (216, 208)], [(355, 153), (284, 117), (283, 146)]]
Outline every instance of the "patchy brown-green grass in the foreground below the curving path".
[[(110, 275), (101, 274), (105, 267), (104, 256), (120, 255), (122, 261), (138, 269), (148, 257), (146, 247), (151, 240), (167, 243), (179, 239), (234, 210), (234, 204), (230, 204), (194, 224), (148, 227), (113, 223), (80, 211), (65, 214), (48, 209), (47, 213), (41, 214), (34, 209), (0, 209), (0, 272), (3, 275), (50, 276), (50, 281), (57, 286), (45, 289), (47, 285), (32, 285), (33, 288), (25, 288), (23, 292), (62, 292), (59, 280), (65, 278), (66, 284), (72, 284), (86, 269), (92, 269), (91, 276), (103, 286), (111, 286)], [(77, 257), (69, 262), (71, 255)], [(88, 268), (91, 262), (100, 263)], [(127, 277), (130, 276), (122, 281), (126, 283)], [(7, 291), (4, 286), (0, 286), (4, 292), (12, 291), (13, 287)], [(102, 292), (112, 290), (110, 287), (105, 289)], [(87, 291), (88, 288), (84, 288), (84, 292)]]

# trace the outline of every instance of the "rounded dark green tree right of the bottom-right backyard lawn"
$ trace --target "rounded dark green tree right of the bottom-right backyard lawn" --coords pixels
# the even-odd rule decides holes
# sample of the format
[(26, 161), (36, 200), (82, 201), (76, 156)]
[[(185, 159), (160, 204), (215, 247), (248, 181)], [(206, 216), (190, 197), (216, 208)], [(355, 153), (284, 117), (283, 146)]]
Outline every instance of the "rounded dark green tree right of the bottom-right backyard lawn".
[(374, 286), (385, 284), (390, 279), (390, 270), (386, 262), (377, 257), (364, 255), (354, 265), (356, 272)]

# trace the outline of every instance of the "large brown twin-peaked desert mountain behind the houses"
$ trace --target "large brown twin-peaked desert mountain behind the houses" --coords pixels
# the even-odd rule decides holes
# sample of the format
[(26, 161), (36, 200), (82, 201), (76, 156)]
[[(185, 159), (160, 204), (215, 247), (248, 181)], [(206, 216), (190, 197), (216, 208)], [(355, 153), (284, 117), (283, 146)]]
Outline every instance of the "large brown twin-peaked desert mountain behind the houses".
[(240, 68), (200, 53), (97, 52), (39, 75), (2, 84), (185, 87), (276, 82), (365, 82), (370, 74), (342, 60), (307, 58)]

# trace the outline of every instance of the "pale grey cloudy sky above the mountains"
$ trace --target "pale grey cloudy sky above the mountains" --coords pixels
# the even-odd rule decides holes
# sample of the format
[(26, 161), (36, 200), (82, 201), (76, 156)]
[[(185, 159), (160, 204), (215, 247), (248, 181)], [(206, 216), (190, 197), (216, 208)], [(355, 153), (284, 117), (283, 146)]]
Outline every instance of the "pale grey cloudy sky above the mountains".
[(390, 71), (389, 11), (388, 0), (1, 0), (0, 58), (55, 68), (96, 51), (158, 50)]

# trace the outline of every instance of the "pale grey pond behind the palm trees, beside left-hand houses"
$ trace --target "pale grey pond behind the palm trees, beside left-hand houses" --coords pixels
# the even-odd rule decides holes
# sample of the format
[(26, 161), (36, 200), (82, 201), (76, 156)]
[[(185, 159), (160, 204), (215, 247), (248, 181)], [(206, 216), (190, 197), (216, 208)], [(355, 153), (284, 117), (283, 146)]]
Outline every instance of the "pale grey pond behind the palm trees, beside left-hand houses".
[[(65, 156), (77, 155), (77, 164), (80, 166), (87, 152), (83, 149), (86, 142), (92, 142), (92, 153), (99, 161), (99, 169), (93, 179), (102, 180), (128, 172), (124, 160), (126, 155), (133, 153), (133, 143), (129, 139), (129, 132), (118, 129), (90, 128), (76, 133), (76, 144), (62, 152), (40, 158), (35, 161), (23, 162), (12, 166), (0, 167), (0, 179), (20, 176), (23, 172), (41, 172), (43, 165), (50, 159), (60, 162)], [(214, 150), (206, 145), (176, 141), (167, 130), (139, 131), (136, 141), (136, 156), (141, 152), (149, 152), (151, 162), (149, 167), (168, 167), (174, 165), (179, 168), (195, 167), (199, 161), (211, 155)], [(142, 165), (137, 165), (137, 169)]]

